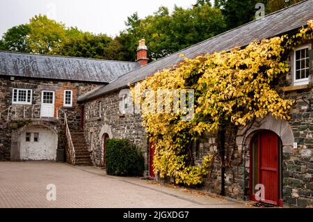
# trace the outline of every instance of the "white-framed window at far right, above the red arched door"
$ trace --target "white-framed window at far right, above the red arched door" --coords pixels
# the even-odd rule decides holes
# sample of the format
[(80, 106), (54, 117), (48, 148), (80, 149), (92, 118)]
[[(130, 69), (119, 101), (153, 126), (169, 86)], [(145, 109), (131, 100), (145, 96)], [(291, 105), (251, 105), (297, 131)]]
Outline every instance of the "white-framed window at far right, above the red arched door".
[(300, 47), (294, 51), (294, 64), (294, 85), (309, 84), (309, 47)]

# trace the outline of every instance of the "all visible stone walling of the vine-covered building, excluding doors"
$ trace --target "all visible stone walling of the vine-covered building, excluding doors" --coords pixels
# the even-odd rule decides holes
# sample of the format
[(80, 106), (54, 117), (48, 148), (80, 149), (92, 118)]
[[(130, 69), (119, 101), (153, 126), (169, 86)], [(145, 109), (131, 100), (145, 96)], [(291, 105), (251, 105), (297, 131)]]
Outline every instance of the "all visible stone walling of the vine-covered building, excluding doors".
[[(313, 149), (313, 50), (310, 48), (310, 85), (305, 88), (291, 88), (292, 71), (282, 77), (276, 88), (284, 98), (295, 100), (291, 111), (291, 120), (275, 120), (271, 116), (257, 120), (255, 125), (243, 136), (245, 129), (239, 129), (233, 138), (228, 129), (228, 143), (235, 143), (231, 166), (225, 172), (225, 193), (232, 198), (249, 200), (250, 193), (250, 140), (259, 130), (271, 130), (282, 140), (282, 198), (285, 206), (312, 207), (312, 149)], [(292, 70), (292, 69), (291, 69)], [(130, 138), (141, 145), (145, 151), (146, 169), (148, 164), (147, 138), (141, 126), (140, 116), (120, 115), (120, 98), (118, 93), (110, 93), (85, 104), (85, 135), (90, 151), (93, 152), (95, 165), (103, 164), (102, 135), (109, 134), (113, 138)], [(298, 147), (294, 149), (294, 143)], [(217, 153), (216, 134), (207, 134), (194, 147), (195, 163), (201, 164), (206, 154), (214, 156), (214, 168), (202, 189), (220, 193), (221, 175), (220, 159)]]

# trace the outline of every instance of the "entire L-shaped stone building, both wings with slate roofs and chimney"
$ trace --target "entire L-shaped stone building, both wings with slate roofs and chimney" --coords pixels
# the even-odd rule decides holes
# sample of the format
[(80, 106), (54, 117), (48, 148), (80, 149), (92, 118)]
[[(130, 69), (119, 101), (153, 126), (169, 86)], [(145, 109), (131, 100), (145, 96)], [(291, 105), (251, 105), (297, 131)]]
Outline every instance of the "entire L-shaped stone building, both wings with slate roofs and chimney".
[[(200, 42), (147, 64), (141, 40), (136, 63), (0, 51), (0, 161), (49, 160), (104, 166), (107, 138), (129, 138), (145, 154), (145, 177), (154, 177), (154, 145), (145, 135), (141, 114), (128, 113), (129, 85), (164, 68), (175, 68), (184, 54), (245, 47), (256, 39), (296, 33), (313, 18), (312, 0), (302, 1), (262, 19)], [(266, 189), (265, 203), (313, 205), (313, 50), (312, 41), (289, 51), (289, 74), (276, 87), (296, 101), (291, 120), (259, 119), (240, 129), (233, 167), (225, 173), (225, 192), (255, 200), (255, 186)], [(195, 145), (198, 164), (216, 152), (216, 135)], [(216, 159), (218, 163), (218, 159)], [(220, 192), (218, 164), (204, 189)]]

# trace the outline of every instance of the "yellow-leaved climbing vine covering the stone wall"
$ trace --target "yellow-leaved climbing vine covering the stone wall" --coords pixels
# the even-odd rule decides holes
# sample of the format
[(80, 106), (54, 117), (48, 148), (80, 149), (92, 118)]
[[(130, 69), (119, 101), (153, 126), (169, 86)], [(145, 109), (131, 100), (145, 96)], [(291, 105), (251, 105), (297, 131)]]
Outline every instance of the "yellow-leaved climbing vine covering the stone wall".
[[(293, 101), (280, 97), (274, 85), (282, 74), (289, 72), (288, 49), (303, 40), (312, 40), (312, 30), (313, 20), (295, 35), (250, 42), (243, 49), (184, 58), (177, 67), (142, 81), (141, 90), (195, 90), (195, 114), (191, 121), (182, 119), (182, 110), (178, 113), (143, 110), (143, 126), (156, 143), (155, 173), (161, 178), (173, 178), (176, 184), (202, 184), (212, 166), (212, 157), (204, 156), (201, 166), (195, 164), (192, 148), (200, 136), (207, 132), (218, 134), (221, 167), (225, 168), (226, 127), (245, 126), (269, 113), (290, 120)], [(134, 87), (131, 90), (134, 93)], [(151, 99), (156, 98), (147, 96), (141, 102), (150, 104)], [(177, 105), (172, 95), (163, 100)]]

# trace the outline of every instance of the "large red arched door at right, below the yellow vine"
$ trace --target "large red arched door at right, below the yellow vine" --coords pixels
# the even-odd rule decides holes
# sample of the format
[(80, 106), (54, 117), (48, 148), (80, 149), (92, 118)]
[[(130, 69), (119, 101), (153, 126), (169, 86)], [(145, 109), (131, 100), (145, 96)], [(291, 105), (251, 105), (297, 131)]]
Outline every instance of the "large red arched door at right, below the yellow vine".
[[(250, 144), (250, 200), (282, 205), (281, 191), (281, 142), (277, 134), (264, 131), (252, 138)], [(264, 186), (256, 197), (256, 186)]]

